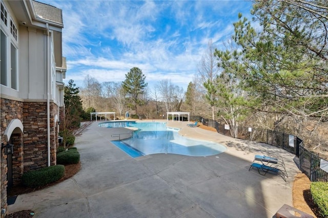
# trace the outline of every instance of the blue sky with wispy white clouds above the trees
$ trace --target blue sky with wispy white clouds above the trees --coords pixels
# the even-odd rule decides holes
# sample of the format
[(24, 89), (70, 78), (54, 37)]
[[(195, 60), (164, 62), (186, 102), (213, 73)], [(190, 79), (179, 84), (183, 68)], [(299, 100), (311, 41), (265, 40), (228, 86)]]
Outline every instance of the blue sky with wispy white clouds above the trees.
[(250, 17), (250, 1), (48, 1), (63, 10), (63, 56), (82, 87), (125, 80), (131, 68), (146, 75), (149, 89), (169, 79), (187, 90), (209, 40), (216, 48), (230, 38), (238, 13)]

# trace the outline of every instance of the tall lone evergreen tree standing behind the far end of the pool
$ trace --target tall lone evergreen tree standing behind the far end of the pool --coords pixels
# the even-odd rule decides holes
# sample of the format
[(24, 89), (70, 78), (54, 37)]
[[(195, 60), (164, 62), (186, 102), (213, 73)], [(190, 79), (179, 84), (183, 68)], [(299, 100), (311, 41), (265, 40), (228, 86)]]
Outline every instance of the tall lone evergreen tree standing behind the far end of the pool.
[(127, 93), (130, 100), (131, 107), (138, 114), (138, 105), (142, 105), (140, 98), (144, 93), (148, 83), (145, 82), (146, 76), (139, 68), (132, 68), (128, 74), (125, 75), (126, 79), (122, 82), (122, 88)]

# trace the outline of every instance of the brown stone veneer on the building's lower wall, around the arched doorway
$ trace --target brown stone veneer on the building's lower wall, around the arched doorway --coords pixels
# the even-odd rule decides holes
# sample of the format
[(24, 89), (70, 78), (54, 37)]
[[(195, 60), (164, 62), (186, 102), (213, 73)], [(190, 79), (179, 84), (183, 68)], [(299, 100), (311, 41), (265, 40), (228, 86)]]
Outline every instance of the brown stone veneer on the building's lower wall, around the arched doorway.
[[(56, 114), (58, 106), (50, 103), (50, 165), (56, 164)], [(11, 143), (14, 144), (13, 185), (16, 185), (20, 183), (23, 172), (48, 166), (47, 102), (21, 102), (1, 98), (1, 142), (5, 142), (4, 132), (12, 119), (19, 119), (24, 125), (23, 134), (11, 135)], [(4, 149), (1, 149), (1, 208), (5, 209), (8, 206), (7, 172), (7, 156), (4, 155)]]

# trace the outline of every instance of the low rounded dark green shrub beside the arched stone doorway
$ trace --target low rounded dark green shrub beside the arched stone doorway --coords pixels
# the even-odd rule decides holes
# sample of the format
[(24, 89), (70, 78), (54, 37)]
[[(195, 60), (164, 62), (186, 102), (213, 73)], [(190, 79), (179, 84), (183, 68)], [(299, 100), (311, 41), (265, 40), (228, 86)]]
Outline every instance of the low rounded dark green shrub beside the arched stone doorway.
[(56, 182), (65, 175), (65, 166), (54, 165), (43, 169), (31, 170), (23, 173), (23, 185), (31, 188), (37, 188)]

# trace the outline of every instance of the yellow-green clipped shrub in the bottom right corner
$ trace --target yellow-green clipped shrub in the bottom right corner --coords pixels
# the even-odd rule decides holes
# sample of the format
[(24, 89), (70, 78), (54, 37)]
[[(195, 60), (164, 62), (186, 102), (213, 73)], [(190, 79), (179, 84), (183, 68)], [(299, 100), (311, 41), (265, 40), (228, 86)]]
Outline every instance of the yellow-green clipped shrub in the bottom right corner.
[(328, 183), (312, 182), (310, 190), (312, 199), (320, 210), (319, 212), (323, 217), (328, 217)]

